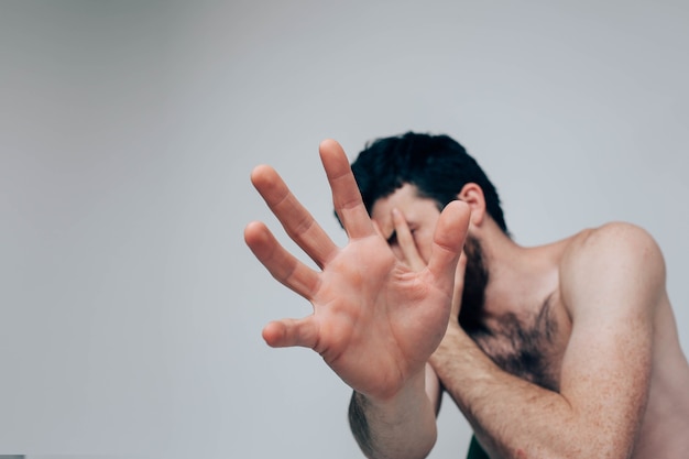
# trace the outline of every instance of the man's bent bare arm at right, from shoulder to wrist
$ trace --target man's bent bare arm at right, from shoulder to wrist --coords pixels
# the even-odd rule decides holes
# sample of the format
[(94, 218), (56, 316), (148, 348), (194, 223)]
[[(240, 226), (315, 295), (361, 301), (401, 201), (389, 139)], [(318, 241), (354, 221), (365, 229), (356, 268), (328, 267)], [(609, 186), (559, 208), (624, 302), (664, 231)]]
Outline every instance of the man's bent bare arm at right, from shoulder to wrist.
[(572, 331), (559, 392), (502, 371), (459, 327), (431, 364), (491, 457), (627, 458), (648, 395), (661, 254), (643, 230), (610, 225), (572, 244), (560, 287)]

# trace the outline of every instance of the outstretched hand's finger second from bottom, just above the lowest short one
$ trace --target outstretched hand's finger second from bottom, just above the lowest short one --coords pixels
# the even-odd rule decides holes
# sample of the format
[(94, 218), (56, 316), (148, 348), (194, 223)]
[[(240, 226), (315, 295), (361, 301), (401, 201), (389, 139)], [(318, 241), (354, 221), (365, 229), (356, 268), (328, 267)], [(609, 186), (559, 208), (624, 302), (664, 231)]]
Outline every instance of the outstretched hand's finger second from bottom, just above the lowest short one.
[(320, 282), (318, 273), (287, 252), (265, 225), (258, 221), (249, 223), (244, 230), (244, 241), (281, 284), (306, 299), (314, 297)]

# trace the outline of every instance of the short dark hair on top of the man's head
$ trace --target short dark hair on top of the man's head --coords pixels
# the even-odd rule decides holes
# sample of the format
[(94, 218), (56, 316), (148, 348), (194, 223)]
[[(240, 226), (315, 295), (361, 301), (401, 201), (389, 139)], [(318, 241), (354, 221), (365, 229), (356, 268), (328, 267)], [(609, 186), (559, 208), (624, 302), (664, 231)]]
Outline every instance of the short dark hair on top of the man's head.
[(442, 210), (468, 183), (483, 190), (485, 208), (506, 233), (497, 190), (467, 150), (448, 135), (407, 132), (368, 143), (352, 163), (352, 172), (369, 214), (373, 204), (404, 184), (416, 185), (420, 196)]

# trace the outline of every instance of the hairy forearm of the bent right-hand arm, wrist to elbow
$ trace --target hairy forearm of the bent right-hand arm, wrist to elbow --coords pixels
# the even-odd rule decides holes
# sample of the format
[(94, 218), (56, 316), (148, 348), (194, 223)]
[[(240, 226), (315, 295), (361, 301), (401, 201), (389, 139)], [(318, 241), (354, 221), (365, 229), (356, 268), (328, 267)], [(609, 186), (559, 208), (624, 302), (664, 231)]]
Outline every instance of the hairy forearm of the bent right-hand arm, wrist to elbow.
[(626, 457), (625, 438), (597, 436), (602, 416), (587, 422), (559, 393), (502, 371), (463, 331), (430, 363), (491, 457)]

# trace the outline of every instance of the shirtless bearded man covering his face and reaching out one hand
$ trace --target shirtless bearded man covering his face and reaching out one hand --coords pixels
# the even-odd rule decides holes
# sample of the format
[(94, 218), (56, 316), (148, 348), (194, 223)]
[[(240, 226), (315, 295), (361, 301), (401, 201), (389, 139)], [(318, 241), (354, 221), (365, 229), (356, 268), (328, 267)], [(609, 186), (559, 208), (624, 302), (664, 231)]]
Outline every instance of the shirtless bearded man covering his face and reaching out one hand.
[(447, 136), (378, 141), (351, 168), (333, 141), (320, 156), (349, 243), (267, 166), (254, 186), (320, 271), (263, 223), (244, 238), (314, 305), (264, 339), (314, 349), (353, 389), (368, 457), (427, 456), (444, 390), (491, 458), (689, 457), (689, 364), (644, 230), (609, 223), (520, 247), (494, 187)]

